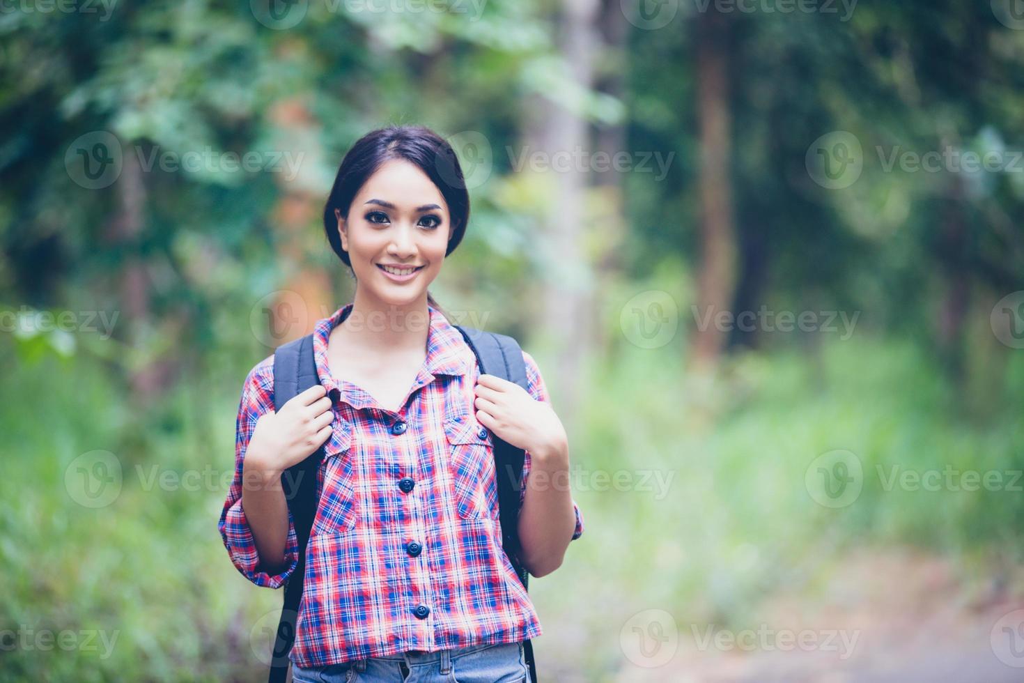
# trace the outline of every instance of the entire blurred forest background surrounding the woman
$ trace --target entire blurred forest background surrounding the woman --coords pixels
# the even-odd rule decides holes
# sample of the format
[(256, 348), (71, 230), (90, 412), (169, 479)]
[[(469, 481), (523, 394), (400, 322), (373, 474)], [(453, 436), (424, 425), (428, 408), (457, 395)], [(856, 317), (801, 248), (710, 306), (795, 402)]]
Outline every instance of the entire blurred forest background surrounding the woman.
[(423, 124), (570, 435), (542, 680), (1024, 680), (1022, 113), (1020, 0), (4, 0), (0, 679), (264, 679), (242, 384)]

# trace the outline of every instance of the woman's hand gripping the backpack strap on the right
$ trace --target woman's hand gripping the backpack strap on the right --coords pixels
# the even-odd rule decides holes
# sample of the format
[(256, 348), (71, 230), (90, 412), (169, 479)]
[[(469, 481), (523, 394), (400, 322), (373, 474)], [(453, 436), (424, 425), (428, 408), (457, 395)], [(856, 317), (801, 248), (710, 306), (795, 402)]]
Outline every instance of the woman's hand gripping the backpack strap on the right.
[(550, 403), (537, 400), (515, 382), (481, 374), (474, 388), (477, 421), (530, 457), (567, 452), (568, 437)]

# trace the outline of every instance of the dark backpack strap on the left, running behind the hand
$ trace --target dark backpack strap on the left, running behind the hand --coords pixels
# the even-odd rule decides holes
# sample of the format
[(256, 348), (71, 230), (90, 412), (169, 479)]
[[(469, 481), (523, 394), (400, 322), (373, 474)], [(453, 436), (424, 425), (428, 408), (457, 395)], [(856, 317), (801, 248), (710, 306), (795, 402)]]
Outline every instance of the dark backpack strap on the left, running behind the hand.
[[(280, 411), (296, 394), (319, 384), (313, 358), (313, 338), (306, 335), (278, 347), (273, 352), (273, 409)], [(288, 509), (295, 522), (299, 558), (295, 570), (285, 582), (285, 606), (278, 624), (270, 660), (270, 683), (285, 683), (288, 677), (288, 654), (295, 642), (296, 621), (302, 601), (302, 584), (306, 572), (306, 545), (316, 516), (316, 469), (324, 460), (324, 446), (281, 475), (281, 485)]]

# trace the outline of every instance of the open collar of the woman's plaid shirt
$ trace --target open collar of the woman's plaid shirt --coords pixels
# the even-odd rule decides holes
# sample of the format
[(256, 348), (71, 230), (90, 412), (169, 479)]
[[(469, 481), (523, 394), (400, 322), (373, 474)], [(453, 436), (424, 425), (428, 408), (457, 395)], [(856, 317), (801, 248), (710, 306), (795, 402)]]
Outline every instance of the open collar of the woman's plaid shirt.
[[(333, 394), (335, 401), (344, 394), (345, 400), (358, 409), (370, 403), (369, 394), (355, 391), (357, 387), (354, 384), (336, 381), (331, 375), (327, 359), (331, 331), (348, 317), (353, 305), (347, 303), (329, 317), (316, 321), (313, 329), (313, 359), (316, 364), (316, 375), (328, 394)], [(429, 384), (437, 375), (464, 375), (476, 364), (473, 350), (466, 343), (462, 333), (430, 304), (427, 304), (427, 312), (430, 315), (430, 328), (427, 330), (427, 357), (416, 377), (413, 390)]]

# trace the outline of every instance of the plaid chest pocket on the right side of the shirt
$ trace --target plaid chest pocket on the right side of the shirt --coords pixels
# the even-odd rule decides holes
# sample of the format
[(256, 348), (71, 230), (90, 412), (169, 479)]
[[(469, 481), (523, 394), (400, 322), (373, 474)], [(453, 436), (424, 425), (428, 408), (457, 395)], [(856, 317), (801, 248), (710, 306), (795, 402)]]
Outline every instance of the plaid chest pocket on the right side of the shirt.
[(451, 453), (449, 468), (459, 516), (498, 519), (495, 446), (490, 431), (472, 415), (445, 418), (444, 436)]

